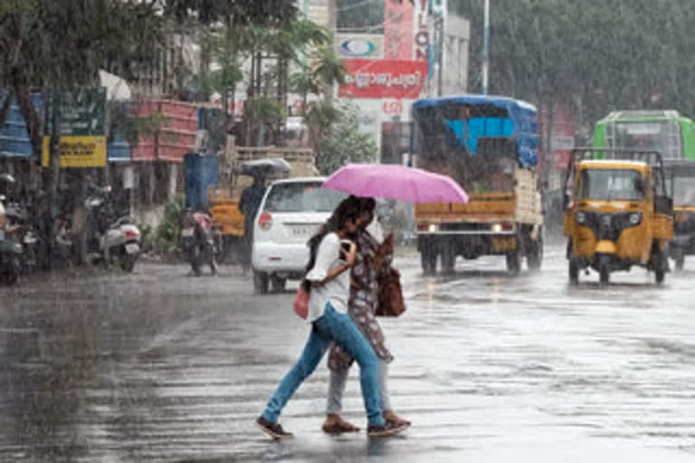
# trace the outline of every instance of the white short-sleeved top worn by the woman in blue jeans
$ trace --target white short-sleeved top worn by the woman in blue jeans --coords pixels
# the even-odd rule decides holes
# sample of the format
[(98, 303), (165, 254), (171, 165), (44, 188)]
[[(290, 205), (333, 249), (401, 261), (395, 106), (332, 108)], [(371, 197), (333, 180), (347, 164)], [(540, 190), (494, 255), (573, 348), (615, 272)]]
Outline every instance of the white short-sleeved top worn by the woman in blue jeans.
[[(328, 276), (330, 269), (345, 263), (340, 259), (340, 239), (336, 233), (328, 233), (323, 237), (316, 253), (314, 268), (307, 273), (309, 281), (323, 281)], [(343, 314), (348, 313), (348, 297), (350, 295), (350, 270), (346, 269), (327, 283), (312, 286), (309, 292), (309, 315), (307, 322), (311, 323), (317, 318), (323, 317), (326, 304)]]

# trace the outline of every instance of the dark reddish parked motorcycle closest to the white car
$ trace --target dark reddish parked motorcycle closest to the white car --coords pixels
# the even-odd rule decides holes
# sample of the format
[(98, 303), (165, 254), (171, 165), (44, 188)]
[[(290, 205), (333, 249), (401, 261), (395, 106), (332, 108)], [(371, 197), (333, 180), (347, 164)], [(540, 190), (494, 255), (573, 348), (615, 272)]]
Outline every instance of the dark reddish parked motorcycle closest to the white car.
[(191, 272), (199, 277), (201, 267), (210, 266), (213, 275), (217, 273), (214, 261), (213, 220), (206, 213), (187, 210), (181, 224), (181, 250), (191, 264)]

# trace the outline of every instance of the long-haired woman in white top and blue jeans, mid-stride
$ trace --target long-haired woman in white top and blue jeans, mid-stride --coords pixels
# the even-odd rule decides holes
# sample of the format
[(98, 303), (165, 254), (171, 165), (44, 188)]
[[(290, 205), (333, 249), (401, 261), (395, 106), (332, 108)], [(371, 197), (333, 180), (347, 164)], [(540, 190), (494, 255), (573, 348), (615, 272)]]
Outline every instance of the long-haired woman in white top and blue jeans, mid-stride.
[[(262, 415), (257, 426), (275, 439), (292, 437), (282, 429), (278, 418), (285, 404), (300, 384), (313, 373), (331, 344), (340, 345), (353, 355), (360, 367), (362, 396), (367, 410), (367, 434), (380, 437), (405, 430), (386, 422), (379, 397), (379, 379), (376, 354), (348, 317), (350, 272), (355, 263), (357, 247), (349, 242), (342, 248), (341, 241), (352, 237), (360, 225), (360, 210), (354, 202), (343, 201), (321, 231), (309, 240), (309, 265), (306, 282), (310, 284), (309, 316), (311, 334), (304, 350), (290, 372), (285, 375)], [(304, 282), (302, 284), (305, 284)]]

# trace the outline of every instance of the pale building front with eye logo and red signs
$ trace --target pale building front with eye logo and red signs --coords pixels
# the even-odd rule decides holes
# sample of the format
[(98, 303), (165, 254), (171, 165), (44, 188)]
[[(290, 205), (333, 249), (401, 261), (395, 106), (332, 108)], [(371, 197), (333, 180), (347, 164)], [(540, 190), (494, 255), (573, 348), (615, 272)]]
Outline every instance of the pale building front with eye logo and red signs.
[(334, 32), (348, 71), (336, 90), (361, 111), (360, 128), (400, 164), (415, 99), (465, 93), (470, 24), (449, 14), (456, 0), (301, 0), (309, 19)]

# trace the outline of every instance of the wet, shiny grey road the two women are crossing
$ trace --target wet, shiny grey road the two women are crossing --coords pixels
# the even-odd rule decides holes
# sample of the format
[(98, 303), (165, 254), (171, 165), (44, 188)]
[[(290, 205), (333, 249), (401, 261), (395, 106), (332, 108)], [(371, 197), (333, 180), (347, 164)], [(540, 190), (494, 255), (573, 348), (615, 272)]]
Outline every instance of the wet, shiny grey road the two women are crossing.
[[(322, 434), (325, 363), (281, 417), (297, 438), (265, 439), (252, 420), (307, 335), (292, 291), (143, 264), (0, 288), (0, 461), (695, 460), (695, 270), (570, 288), (560, 247), (516, 279), (499, 259), (396, 266), (390, 388), (414, 422), (396, 439)], [(346, 408), (364, 426), (357, 370)]]

